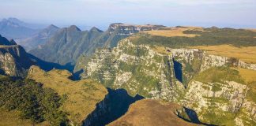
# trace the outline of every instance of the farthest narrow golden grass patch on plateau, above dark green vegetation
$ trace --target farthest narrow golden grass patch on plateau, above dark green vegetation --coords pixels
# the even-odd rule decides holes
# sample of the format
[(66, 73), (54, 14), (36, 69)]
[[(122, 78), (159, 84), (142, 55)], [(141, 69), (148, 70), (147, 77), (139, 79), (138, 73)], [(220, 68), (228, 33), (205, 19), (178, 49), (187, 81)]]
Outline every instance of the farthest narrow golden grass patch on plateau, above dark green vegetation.
[(167, 28), (164, 30), (152, 30), (152, 31), (144, 31), (149, 33), (150, 35), (158, 35), (158, 36), (165, 36), (165, 37), (195, 37), (198, 35), (195, 34), (184, 34), (183, 31), (186, 30), (196, 30), (196, 31), (203, 31), (202, 28), (198, 27), (187, 27), (187, 28)]

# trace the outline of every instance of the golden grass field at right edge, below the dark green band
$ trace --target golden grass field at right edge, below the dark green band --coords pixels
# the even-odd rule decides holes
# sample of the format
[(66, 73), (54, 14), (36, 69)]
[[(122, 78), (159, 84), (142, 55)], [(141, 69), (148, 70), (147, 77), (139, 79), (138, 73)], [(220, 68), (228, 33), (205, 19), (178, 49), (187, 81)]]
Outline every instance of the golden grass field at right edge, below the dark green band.
[(208, 54), (224, 57), (235, 57), (247, 63), (256, 64), (256, 46), (235, 47), (230, 45), (219, 46), (189, 46), (188, 48), (206, 50)]

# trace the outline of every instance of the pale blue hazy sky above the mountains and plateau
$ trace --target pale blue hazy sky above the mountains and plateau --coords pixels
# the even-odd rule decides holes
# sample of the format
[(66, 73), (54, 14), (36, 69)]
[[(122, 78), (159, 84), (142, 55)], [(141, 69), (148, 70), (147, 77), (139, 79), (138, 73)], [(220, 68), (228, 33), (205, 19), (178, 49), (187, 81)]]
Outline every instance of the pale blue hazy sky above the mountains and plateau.
[(0, 0), (0, 19), (83, 28), (111, 23), (256, 28), (256, 0)]

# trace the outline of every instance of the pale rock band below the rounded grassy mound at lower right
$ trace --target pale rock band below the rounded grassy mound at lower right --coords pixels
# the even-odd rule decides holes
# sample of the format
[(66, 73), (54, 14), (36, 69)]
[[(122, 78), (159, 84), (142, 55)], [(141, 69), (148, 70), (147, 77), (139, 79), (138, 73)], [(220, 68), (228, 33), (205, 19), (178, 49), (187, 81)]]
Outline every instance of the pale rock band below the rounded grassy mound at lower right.
[[(193, 105), (191, 103), (198, 103), (197, 111), (200, 112), (203, 107), (210, 105), (211, 100), (220, 98), (223, 100), (220, 109), (223, 111), (230, 111), (232, 113), (238, 112), (243, 103), (243, 99), (247, 93), (247, 86), (236, 82), (224, 83), (201, 83), (192, 81), (190, 87), (186, 92), (185, 98), (190, 98), (186, 101), (186, 105)], [(225, 101), (228, 100), (228, 101)]]

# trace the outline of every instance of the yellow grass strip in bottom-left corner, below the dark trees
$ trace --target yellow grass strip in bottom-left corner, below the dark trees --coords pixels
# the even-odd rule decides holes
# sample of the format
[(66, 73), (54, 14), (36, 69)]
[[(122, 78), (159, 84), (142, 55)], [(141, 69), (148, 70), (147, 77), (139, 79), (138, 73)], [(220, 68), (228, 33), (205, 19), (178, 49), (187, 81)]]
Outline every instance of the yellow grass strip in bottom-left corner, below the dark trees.
[(18, 111), (7, 111), (6, 109), (0, 108), (0, 126), (13, 126), (13, 125), (22, 125), (22, 126), (49, 126), (47, 122), (40, 124), (32, 124), (32, 121), (21, 119)]

